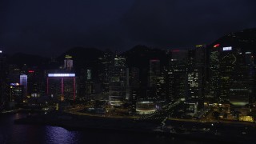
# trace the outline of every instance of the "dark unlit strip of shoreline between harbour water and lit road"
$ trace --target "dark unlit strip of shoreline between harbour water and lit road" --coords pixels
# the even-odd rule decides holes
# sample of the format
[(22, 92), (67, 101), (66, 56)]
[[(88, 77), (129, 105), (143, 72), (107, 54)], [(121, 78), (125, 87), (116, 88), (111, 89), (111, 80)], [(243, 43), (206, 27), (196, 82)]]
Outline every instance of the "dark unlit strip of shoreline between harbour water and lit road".
[[(91, 116), (72, 117), (73, 114), (44, 114), (14, 121), (14, 124), (59, 126), (70, 131), (102, 131), (123, 134), (147, 134), (164, 138), (186, 138), (195, 142), (254, 142), (254, 138), (246, 139), (232, 135), (218, 135), (213, 133), (195, 132), (190, 134), (171, 133), (170, 131), (155, 131), (159, 125), (154, 122), (134, 122), (130, 118), (99, 118)], [(74, 116), (74, 115), (73, 115)], [(229, 138), (230, 137), (230, 138)], [(249, 142), (247, 142), (249, 140)]]

